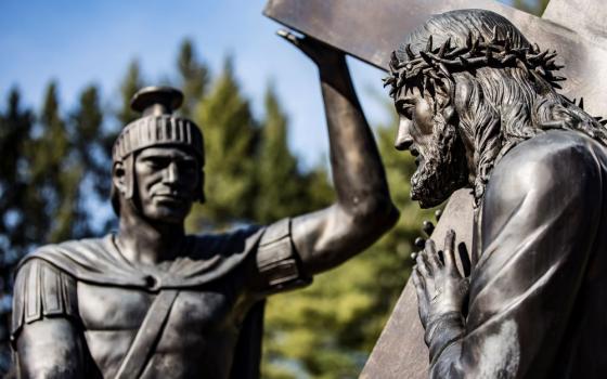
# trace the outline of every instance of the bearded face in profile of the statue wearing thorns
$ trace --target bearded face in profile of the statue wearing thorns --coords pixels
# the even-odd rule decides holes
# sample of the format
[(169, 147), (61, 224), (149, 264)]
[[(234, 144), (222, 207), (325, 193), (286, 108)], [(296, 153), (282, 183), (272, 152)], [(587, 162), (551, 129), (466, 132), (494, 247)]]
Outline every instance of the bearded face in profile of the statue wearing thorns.
[(411, 198), (422, 208), (444, 201), (465, 184), (462, 178), (466, 177), (456, 126), (452, 117), (445, 117), (444, 109), (437, 110), (437, 101), (438, 95), (423, 96), (416, 89), (395, 101), (400, 118), (395, 145), (415, 156), (417, 170), (411, 177)]

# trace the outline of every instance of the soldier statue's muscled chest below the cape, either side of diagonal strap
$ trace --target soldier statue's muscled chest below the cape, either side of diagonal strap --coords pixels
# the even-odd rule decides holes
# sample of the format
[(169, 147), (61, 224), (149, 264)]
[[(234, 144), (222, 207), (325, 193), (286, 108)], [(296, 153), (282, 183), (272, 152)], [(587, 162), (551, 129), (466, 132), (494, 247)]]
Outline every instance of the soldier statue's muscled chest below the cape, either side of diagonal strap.
[[(172, 373), (173, 377), (192, 377), (192, 373), (199, 376), (193, 362), (231, 357), (242, 298), (238, 288), (232, 280), (179, 291), (163, 325), (158, 325), (162, 330), (157, 330), (148, 365), (148, 370), (158, 375), (152, 377), (166, 377), (167, 367), (181, 367), (183, 375)], [(78, 308), (88, 350), (104, 376), (117, 373), (156, 297), (144, 290), (78, 283)]]

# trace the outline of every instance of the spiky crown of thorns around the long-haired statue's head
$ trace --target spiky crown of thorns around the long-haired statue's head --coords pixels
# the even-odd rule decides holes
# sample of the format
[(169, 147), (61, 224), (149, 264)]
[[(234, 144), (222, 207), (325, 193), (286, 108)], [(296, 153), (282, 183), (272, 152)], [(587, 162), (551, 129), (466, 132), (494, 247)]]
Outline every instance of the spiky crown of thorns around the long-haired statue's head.
[(405, 94), (414, 87), (431, 96), (435, 90), (443, 89), (444, 80), (453, 81), (452, 73), (473, 70), (478, 67), (519, 67), (527, 73), (533, 71), (544, 78), (552, 87), (561, 89), (558, 81), (566, 78), (553, 75), (564, 66), (555, 63), (556, 51), (541, 51), (538, 44), (526, 48), (512, 48), (511, 34), (504, 39), (498, 38), (496, 28), (493, 37), (486, 40), (482, 36), (474, 39), (469, 31), (465, 47), (451, 47), (448, 38), (440, 47), (432, 47), (432, 36), (428, 38), (426, 49), (414, 54), (411, 44), (404, 47), (409, 61), (399, 61), (396, 51), (390, 58), (390, 76), (384, 79), (384, 87), (391, 86), (390, 96), (396, 99), (404, 88)]

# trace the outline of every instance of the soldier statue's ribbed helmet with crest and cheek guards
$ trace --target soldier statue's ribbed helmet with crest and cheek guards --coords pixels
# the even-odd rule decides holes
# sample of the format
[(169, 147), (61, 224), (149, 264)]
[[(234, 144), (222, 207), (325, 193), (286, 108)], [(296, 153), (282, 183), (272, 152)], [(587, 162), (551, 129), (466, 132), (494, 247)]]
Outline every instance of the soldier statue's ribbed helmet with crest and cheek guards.
[[(183, 102), (181, 91), (171, 87), (146, 87), (131, 100), (131, 108), (142, 114), (141, 118), (127, 125), (112, 148), (112, 166), (122, 162), (125, 168), (126, 199), (131, 200), (137, 185), (134, 159), (137, 153), (152, 146), (176, 146), (193, 154), (202, 169), (204, 166), (204, 141), (201, 129), (183, 117), (175, 116)], [(198, 181), (198, 200), (204, 202), (202, 175)], [(118, 191), (112, 185), (112, 206), (119, 214)]]

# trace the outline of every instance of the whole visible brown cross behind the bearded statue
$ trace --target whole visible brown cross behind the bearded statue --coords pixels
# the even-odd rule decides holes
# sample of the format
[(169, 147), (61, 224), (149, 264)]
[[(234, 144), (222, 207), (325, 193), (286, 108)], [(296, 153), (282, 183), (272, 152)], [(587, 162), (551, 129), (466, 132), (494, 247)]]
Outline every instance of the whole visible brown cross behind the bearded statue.
[[(491, 0), (269, 0), (264, 14), (384, 70), (390, 53), (431, 14), (486, 9), (509, 19), (531, 43), (556, 50), (563, 86), (570, 99), (584, 96), (584, 108), (607, 116), (607, 6), (599, 0), (552, 0), (537, 17)], [(432, 238), (448, 228), (457, 244), (472, 248), (473, 200), (467, 190), (453, 194)], [(404, 214), (403, 217), (406, 217)], [(413, 284), (406, 284), (361, 378), (427, 378), (428, 351), (417, 314)]]

